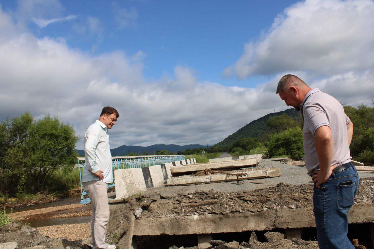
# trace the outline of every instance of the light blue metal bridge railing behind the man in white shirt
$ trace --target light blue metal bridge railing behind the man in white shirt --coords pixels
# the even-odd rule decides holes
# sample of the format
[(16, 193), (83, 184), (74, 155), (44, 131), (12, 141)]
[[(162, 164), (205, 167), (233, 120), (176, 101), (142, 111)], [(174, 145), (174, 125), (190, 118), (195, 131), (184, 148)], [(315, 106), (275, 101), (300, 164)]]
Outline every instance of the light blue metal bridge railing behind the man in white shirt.
[[(134, 157), (112, 157), (112, 166), (113, 166), (113, 182), (108, 185), (108, 188), (116, 185), (114, 181), (114, 170), (115, 169), (133, 169), (140, 167), (149, 167), (153, 165), (159, 165), (163, 163), (171, 163), (175, 161), (185, 160), (184, 155), (173, 155), (173, 156), (134, 156)], [(79, 176), (80, 176), (80, 203), (87, 204), (90, 202), (89, 198), (84, 198), (87, 195), (86, 191), (83, 188), (82, 184), (82, 173), (83, 167), (85, 166), (86, 158), (78, 157), (78, 167), (79, 167)]]

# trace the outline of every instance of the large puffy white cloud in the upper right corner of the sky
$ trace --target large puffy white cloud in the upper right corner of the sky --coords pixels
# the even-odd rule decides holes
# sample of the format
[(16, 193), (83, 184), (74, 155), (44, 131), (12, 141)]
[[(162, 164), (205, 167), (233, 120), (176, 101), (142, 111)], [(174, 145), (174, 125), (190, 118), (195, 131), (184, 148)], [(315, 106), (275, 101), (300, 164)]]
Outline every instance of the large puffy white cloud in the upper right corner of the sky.
[(316, 76), (374, 67), (374, 1), (307, 0), (278, 15), (263, 37), (245, 44), (233, 65), (239, 79), (307, 71)]

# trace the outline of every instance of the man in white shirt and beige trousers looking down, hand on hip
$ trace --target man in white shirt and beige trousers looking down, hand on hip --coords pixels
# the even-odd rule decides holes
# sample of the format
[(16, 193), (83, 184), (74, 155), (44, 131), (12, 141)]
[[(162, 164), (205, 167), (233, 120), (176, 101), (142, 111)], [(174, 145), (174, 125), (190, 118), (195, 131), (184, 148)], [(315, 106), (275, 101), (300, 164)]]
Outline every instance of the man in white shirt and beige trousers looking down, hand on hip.
[(113, 181), (112, 156), (108, 129), (116, 123), (119, 114), (113, 107), (104, 107), (99, 120), (91, 124), (85, 133), (86, 165), (82, 182), (91, 199), (91, 238), (93, 248), (115, 249), (105, 243), (109, 221), (108, 184)]

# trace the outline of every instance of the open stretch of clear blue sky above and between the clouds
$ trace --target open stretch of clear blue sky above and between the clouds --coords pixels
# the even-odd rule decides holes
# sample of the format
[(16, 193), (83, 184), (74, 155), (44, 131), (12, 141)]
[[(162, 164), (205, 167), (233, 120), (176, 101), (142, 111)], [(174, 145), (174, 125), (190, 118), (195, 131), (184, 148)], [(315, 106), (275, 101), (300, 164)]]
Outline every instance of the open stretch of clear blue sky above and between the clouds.
[[(134, 55), (145, 53), (144, 76), (157, 79), (173, 74), (175, 65), (194, 68), (201, 80), (225, 86), (253, 87), (269, 79), (226, 79), (222, 70), (234, 63), (243, 52), (243, 44), (256, 41), (266, 32), (274, 18), (296, 1), (62, 1), (58, 15), (77, 16), (70, 21), (55, 22), (40, 28), (29, 27), (42, 38), (63, 37), (68, 46), (86, 53), (100, 54), (124, 50)], [(15, 11), (17, 1), (4, 1), (3, 9)], [(127, 14), (119, 27), (116, 10)], [(50, 15), (49, 18), (55, 16)], [(100, 31), (80, 34), (73, 25), (85, 24), (88, 17), (99, 19)]]

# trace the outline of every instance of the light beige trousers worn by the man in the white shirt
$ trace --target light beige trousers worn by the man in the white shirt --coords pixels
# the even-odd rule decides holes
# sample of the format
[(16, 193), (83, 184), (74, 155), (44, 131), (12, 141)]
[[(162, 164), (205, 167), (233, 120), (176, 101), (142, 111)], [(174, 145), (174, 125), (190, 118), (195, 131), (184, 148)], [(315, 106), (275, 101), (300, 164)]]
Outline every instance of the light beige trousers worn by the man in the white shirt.
[(91, 238), (96, 248), (108, 248), (105, 243), (107, 224), (109, 221), (108, 184), (94, 180), (83, 182), (88, 197), (91, 199)]

